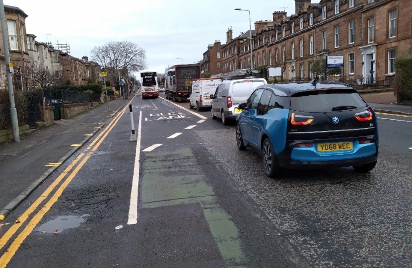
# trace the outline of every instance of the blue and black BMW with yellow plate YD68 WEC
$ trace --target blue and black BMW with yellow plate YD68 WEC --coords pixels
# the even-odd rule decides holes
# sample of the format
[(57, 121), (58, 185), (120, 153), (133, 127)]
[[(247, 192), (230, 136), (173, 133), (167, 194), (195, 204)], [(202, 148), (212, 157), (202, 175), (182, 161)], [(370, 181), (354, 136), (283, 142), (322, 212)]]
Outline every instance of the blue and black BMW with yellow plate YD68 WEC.
[(282, 168), (352, 166), (368, 172), (376, 165), (375, 112), (349, 85), (262, 85), (238, 109), (243, 111), (236, 119), (237, 147), (261, 154), (268, 177)]

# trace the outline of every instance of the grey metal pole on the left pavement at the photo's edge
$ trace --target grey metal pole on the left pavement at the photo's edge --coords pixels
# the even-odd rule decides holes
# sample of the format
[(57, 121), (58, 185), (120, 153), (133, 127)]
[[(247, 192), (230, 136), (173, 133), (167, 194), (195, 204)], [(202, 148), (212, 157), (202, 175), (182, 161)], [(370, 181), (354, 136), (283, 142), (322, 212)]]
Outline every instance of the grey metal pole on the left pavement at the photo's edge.
[(7, 73), (8, 98), (10, 100), (11, 130), (13, 132), (13, 140), (15, 142), (19, 142), (20, 134), (18, 130), (17, 110), (16, 110), (16, 106), (14, 103), (13, 81), (11, 80), (11, 72), (10, 72), (13, 70), (13, 64), (10, 63), (10, 53), (9, 53), (9, 48), (8, 48), (8, 36), (7, 36), (6, 18), (5, 18), (5, 13), (4, 13), (3, 0), (0, 0), (0, 21), (1, 21), (1, 35), (3, 37), (3, 46), (4, 46), (4, 58), (5, 58), (4, 60), (6, 64), (6, 73)]

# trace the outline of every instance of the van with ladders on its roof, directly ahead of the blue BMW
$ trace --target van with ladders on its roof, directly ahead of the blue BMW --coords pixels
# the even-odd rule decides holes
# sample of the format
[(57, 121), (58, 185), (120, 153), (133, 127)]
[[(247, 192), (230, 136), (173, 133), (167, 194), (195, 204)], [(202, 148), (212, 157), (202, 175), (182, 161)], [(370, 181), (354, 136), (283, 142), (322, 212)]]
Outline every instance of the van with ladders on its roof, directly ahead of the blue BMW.
[(210, 95), (212, 119), (221, 118), (223, 125), (227, 125), (229, 120), (235, 120), (242, 112), (237, 109), (239, 104), (246, 102), (255, 88), (265, 84), (268, 82), (264, 78), (223, 80), (214, 94)]

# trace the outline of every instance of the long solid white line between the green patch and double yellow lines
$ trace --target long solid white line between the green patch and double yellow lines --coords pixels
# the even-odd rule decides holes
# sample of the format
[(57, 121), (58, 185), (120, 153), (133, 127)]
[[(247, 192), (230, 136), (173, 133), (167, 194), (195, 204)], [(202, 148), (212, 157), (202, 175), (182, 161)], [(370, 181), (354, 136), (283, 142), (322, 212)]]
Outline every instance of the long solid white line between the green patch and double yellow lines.
[(127, 224), (137, 223), (137, 200), (139, 191), (139, 168), (140, 168), (140, 141), (141, 141), (141, 111), (139, 115), (139, 125), (137, 127), (137, 143), (135, 167), (133, 170), (132, 192), (130, 195), (129, 219)]

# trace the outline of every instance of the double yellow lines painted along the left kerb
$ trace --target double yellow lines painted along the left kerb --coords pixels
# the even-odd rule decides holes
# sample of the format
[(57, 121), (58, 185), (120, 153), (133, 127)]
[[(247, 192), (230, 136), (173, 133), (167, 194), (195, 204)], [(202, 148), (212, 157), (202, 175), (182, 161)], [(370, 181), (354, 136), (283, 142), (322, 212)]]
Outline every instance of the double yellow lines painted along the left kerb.
[[(100, 146), (106, 136), (111, 132), (117, 122), (120, 120), (125, 110), (129, 108), (128, 105), (111, 121), (107, 128), (105, 128), (91, 143), (87, 148), (80, 153), (74, 160), (69, 164), (69, 166), (59, 175), (59, 177), (43, 192), (43, 194), (34, 201), (30, 207), (21, 214), (16, 222), (4, 233), (0, 238), (0, 250), (6, 245), (6, 243), (11, 239), (11, 237), (17, 232), (20, 226), (30, 217), (30, 215), (40, 206), (40, 204), (48, 198), (52, 191), (61, 183), (61, 181), (69, 174), (74, 166), (80, 161), (80, 163), (71, 171), (68, 178), (62, 183), (62, 185), (56, 190), (54, 195), (49, 201), (32, 217), (30, 222), (26, 227), (17, 235), (13, 240), (9, 248), (0, 257), (0, 268), (5, 268), (10, 262), (11, 258), (17, 252), (18, 248), (21, 246), (26, 237), (33, 231), (36, 225), (40, 222), (43, 216), (49, 211), (53, 204), (59, 199), (63, 194), (63, 191), (67, 188), (69, 183), (72, 181), (77, 172), (83, 167), (94, 151)], [(94, 146), (94, 147), (93, 147)], [(84, 158), (83, 158), (84, 156)], [(83, 158), (83, 159), (82, 159)]]

